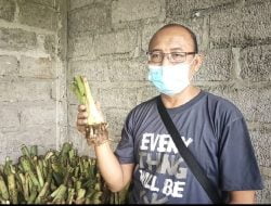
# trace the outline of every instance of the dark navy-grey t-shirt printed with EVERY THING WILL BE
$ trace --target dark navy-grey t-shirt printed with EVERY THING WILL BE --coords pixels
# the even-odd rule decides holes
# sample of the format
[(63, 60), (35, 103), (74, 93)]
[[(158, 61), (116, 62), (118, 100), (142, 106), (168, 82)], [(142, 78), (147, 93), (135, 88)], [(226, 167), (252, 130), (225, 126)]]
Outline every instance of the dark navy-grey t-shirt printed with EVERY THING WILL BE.
[[(231, 102), (201, 91), (167, 111), (185, 145), (221, 191), (263, 188), (246, 123)], [(168, 134), (155, 98), (129, 113), (115, 154), (120, 164), (136, 164), (131, 203), (211, 203)]]

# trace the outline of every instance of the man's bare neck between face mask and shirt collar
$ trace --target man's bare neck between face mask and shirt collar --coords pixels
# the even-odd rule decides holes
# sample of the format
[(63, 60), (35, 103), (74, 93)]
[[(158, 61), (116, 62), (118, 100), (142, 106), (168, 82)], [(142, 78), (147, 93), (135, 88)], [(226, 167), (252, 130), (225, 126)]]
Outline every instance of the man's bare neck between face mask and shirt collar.
[(199, 92), (201, 92), (199, 88), (196, 88), (194, 86), (189, 86), (182, 92), (172, 96), (162, 94), (162, 101), (166, 106), (166, 108), (173, 108), (185, 104), (186, 102), (195, 98)]

